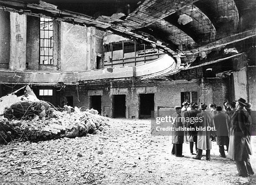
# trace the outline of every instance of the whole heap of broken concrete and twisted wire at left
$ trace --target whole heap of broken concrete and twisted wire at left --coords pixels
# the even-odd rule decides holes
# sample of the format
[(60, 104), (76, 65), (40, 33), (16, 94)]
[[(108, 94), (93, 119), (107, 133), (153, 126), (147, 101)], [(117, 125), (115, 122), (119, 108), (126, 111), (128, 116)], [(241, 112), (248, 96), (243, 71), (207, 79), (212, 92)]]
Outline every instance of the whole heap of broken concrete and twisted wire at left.
[(80, 110), (64, 106), (57, 111), (25, 86), (0, 99), (0, 144), (12, 140), (40, 141), (57, 138), (86, 136), (105, 132), (108, 118), (94, 109)]

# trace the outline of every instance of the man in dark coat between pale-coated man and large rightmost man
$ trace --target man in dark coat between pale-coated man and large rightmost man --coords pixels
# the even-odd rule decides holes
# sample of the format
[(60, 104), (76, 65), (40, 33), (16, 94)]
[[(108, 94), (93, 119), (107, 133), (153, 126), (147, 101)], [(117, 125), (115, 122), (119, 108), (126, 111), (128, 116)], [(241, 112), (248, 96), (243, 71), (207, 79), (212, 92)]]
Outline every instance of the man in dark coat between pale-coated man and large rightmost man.
[(217, 132), (216, 142), (219, 145), (220, 157), (226, 157), (224, 145), (226, 145), (228, 150), (229, 144), (229, 133), (228, 133), (228, 124), (229, 117), (228, 114), (222, 113), (221, 106), (216, 107), (217, 114), (213, 116), (213, 124)]

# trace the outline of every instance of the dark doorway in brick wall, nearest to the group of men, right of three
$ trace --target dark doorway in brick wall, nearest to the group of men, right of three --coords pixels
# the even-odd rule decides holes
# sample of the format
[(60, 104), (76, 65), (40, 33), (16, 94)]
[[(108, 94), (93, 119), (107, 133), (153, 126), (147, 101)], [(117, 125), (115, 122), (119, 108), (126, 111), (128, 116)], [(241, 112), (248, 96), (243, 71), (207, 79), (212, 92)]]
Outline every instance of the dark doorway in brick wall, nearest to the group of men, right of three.
[(140, 94), (140, 118), (150, 118), (151, 111), (154, 111), (154, 94)]

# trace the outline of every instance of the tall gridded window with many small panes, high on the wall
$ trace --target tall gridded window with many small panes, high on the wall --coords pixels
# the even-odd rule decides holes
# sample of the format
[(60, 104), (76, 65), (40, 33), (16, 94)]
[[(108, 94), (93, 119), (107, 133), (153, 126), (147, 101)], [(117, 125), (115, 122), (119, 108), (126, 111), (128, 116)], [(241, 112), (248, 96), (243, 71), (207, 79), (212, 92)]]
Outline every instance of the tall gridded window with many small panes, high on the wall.
[(40, 18), (40, 64), (53, 65), (53, 20)]

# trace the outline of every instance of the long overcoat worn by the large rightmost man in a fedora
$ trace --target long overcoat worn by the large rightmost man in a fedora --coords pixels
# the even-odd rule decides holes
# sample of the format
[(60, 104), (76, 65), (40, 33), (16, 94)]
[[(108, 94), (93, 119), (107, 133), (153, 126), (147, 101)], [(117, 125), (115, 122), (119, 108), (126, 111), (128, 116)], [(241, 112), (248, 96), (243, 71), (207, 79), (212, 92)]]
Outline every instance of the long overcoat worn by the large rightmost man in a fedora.
[(247, 160), (251, 150), (251, 119), (245, 108), (238, 108), (231, 116), (228, 157), (236, 161)]

